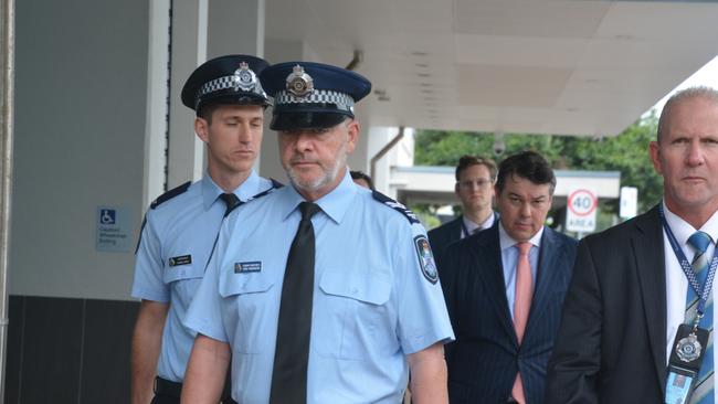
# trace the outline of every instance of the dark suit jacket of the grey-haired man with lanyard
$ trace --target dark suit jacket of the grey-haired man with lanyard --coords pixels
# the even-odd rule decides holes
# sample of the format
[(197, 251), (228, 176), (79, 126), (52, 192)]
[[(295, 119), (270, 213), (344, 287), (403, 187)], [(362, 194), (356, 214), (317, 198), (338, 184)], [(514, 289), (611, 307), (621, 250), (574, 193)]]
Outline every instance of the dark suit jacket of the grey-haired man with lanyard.
[(656, 208), (581, 241), (547, 403), (663, 403), (666, 276)]

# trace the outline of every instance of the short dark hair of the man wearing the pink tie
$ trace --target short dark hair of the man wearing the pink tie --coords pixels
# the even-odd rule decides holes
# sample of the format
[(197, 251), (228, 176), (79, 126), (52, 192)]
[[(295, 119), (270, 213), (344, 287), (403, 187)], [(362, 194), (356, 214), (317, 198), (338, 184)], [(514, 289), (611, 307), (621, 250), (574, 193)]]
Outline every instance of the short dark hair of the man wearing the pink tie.
[(525, 178), (535, 184), (549, 184), (549, 195), (553, 195), (556, 176), (549, 162), (536, 151), (511, 155), (498, 164), (496, 189), (499, 193), (504, 191), (506, 179), (514, 176)]

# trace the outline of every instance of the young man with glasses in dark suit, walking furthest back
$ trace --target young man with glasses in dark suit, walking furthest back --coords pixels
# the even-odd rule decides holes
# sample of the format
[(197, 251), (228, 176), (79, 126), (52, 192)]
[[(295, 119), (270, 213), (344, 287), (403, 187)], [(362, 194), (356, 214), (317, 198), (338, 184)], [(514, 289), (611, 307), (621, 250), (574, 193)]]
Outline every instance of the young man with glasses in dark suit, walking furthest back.
[(476, 156), (463, 156), (456, 166), (454, 192), (462, 203), (458, 217), (432, 228), (429, 243), (440, 265), (450, 244), (494, 225), (496, 214), (492, 210), (496, 163)]

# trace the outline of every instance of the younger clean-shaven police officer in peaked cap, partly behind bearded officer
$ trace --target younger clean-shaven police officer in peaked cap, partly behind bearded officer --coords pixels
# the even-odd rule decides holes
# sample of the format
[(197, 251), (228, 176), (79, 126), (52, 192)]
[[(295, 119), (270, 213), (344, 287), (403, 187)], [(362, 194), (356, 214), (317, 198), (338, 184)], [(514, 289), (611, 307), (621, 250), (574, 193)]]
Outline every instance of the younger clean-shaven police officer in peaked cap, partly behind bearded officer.
[(133, 334), (135, 404), (179, 402), (194, 340), (182, 320), (220, 225), (233, 208), (274, 187), (252, 169), (270, 105), (257, 75), (267, 65), (247, 55), (217, 57), (182, 88), (182, 104), (197, 113), (194, 131), (207, 143), (208, 166), (200, 181), (159, 196), (145, 216), (131, 291), (141, 299)]

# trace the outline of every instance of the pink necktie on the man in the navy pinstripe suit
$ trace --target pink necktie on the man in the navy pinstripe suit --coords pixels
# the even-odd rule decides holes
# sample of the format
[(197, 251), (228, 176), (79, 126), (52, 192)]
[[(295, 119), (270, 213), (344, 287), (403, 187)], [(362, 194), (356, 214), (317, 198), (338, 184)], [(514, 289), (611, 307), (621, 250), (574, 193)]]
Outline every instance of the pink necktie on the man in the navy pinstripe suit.
[[(534, 298), (534, 279), (531, 278), (531, 264), (528, 261), (528, 253), (531, 251), (530, 243), (517, 243), (518, 263), (516, 264), (516, 297), (514, 300), (514, 329), (520, 344), (524, 340), (526, 322), (528, 322), (528, 312), (531, 309), (531, 299)], [(516, 375), (511, 396), (517, 402), (525, 404), (524, 383), (521, 373)]]

